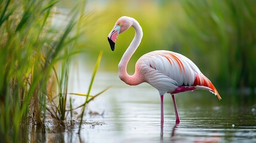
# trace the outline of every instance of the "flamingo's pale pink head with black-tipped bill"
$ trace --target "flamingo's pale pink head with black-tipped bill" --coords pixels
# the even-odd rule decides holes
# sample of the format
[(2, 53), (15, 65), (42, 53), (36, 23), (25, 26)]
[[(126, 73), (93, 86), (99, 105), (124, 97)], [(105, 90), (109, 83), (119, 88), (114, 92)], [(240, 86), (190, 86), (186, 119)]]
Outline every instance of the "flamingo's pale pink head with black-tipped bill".
[(110, 48), (112, 51), (115, 50), (115, 43), (118, 35), (125, 32), (129, 27), (132, 26), (132, 18), (131, 17), (120, 17), (118, 21), (116, 21), (115, 26), (107, 36), (107, 40), (109, 41)]

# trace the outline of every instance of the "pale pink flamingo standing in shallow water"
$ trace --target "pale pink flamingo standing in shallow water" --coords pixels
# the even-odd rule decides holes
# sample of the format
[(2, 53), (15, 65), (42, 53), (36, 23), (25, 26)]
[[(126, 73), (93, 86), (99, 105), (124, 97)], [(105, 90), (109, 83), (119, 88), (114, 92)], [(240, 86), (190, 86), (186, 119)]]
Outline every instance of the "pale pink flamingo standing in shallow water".
[(120, 17), (107, 37), (110, 47), (114, 51), (118, 35), (125, 32), (129, 27), (134, 27), (135, 36), (118, 64), (119, 78), (128, 85), (139, 85), (147, 82), (158, 89), (161, 97), (161, 125), (164, 123), (164, 94), (166, 93), (172, 96), (176, 117), (175, 123), (180, 123), (180, 117), (178, 116), (174, 94), (203, 89), (212, 92), (218, 97), (218, 100), (221, 100), (217, 89), (201, 73), (196, 64), (177, 52), (158, 50), (144, 54), (135, 64), (134, 74), (129, 75), (127, 64), (143, 37), (140, 24), (134, 18)]

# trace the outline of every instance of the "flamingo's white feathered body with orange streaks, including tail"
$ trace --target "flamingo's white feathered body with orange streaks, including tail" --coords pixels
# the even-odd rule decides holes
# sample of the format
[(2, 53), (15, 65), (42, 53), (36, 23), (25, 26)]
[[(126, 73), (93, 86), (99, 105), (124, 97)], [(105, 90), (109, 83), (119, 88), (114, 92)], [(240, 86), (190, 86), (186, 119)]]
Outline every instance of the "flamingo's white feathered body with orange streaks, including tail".
[(158, 89), (160, 95), (205, 89), (220, 99), (211, 81), (184, 55), (165, 50), (153, 51), (143, 55), (135, 67), (144, 82)]

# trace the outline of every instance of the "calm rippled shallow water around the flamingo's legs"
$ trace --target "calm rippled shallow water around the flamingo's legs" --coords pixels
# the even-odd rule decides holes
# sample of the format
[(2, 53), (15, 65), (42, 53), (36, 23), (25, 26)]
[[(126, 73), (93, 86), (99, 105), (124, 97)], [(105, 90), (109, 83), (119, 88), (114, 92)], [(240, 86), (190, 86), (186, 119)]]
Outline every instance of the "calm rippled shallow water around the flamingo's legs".
[[(87, 93), (90, 74), (72, 79), (70, 92)], [(96, 98), (88, 111), (103, 116), (85, 116), (90, 125), (62, 133), (37, 135), (46, 142), (256, 142), (255, 105), (227, 105), (208, 91), (193, 91), (176, 95), (181, 122), (175, 125), (171, 96), (164, 97), (164, 126), (160, 124), (160, 97), (158, 91), (143, 83), (125, 85), (118, 73), (98, 73), (92, 94), (113, 85)], [(221, 93), (220, 93), (221, 94)], [(221, 94), (225, 99), (225, 95)], [(75, 97), (74, 106), (84, 102)], [(94, 125), (93, 122), (100, 124)], [(53, 129), (54, 130), (54, 129)]]

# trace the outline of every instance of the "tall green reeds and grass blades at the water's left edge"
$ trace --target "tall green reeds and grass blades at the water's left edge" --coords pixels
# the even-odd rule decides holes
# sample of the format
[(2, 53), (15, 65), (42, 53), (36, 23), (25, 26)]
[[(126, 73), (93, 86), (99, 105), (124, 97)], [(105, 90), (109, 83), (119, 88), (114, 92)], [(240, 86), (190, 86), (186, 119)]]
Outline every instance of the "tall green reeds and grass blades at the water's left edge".
[[(20, 126), (35, 124), (45, 132), (48, 114), (65, 127), (67, 112), (72, 120), (72, 98), (68, 98), (72, 57), (85, 49), (76, 46), (83, 30), (85, 1), (78, 1), (65, 21), (53, 26), (58, 1), (1, 1), (0, 5), (0, 138), (17, 142)], [(102, 52), (95, 69), (100, 64)], [(94, 79), (94, 70), (92, 79)], [(91, 80), (89, 91), (92, 88)], [(106, 91), (106, 88), (104, 91)], [(102, 92), (104, 92), (102, 91)], [(83, 95), (88, 102), (100, 95)], [(71, 95), (71, 94), (70, 94)], [(70, 108), (67, 108), (70, 104)], [(84, 114), (84, 110), (82, 112)], [(82, 117), (81, 117), (82, 120)], [(82, 122), (81, 122), (82, 123)]]

